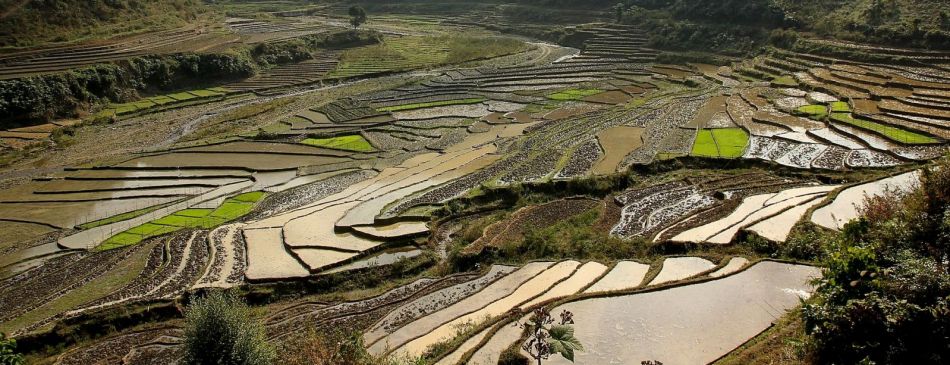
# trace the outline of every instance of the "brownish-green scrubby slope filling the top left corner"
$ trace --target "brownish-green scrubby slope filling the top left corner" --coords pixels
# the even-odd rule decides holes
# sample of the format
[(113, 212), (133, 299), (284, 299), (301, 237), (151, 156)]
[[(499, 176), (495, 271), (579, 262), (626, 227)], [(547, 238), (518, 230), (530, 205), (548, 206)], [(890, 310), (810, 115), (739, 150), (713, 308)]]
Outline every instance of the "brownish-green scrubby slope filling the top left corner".
[(169, 29), (204, 9), (199, 0), (3, 0), (0, 48)]

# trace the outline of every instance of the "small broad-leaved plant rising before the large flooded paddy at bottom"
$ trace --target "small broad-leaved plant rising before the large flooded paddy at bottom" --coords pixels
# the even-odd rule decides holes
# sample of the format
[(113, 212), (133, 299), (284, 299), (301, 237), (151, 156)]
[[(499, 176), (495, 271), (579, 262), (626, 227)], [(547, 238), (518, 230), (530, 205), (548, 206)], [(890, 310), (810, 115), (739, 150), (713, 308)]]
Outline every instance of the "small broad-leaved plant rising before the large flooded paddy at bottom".
[(574, 362), (574, 351), (583, 351), (584, 346), (574, 337), (574, 314), (568, 311), (561, 312), (560, 324), (553, 324), (554, 318), (547, 308), (534, 310), (534, 315), (523, 325), (531, 331), (528, 341), (521, 345), (521, 349), (541, 365), (554, 354), (561, 354), (565, 359)]

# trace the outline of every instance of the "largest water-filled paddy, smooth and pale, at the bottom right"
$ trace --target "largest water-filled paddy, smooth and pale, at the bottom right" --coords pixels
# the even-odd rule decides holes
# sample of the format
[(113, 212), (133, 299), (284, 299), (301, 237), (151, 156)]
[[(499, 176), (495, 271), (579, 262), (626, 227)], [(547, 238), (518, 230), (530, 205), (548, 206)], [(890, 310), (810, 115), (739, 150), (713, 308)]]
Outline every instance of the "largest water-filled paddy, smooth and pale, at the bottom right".
[[(553, 312), (574, 313), (575, 335), (585, 347), (576, 353), (577, 364), (708, 363), (797, 306), (817, 275), (814, 267), (762, 262), (711, 282), (589, 299)], [(560, 357), (548, 362), (570, 363)]]

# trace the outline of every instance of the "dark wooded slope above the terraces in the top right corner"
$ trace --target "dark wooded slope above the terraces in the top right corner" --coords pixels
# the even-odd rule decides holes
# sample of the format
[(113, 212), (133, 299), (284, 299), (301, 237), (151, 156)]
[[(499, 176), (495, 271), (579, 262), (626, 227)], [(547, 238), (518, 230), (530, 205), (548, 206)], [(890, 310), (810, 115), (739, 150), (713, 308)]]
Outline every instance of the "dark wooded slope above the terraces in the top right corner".
[(628, 0), (621, 20), (651, 45), (744, 54), (780, 29), (865, 43), (950, 48), (950, 8), (939, 1)]

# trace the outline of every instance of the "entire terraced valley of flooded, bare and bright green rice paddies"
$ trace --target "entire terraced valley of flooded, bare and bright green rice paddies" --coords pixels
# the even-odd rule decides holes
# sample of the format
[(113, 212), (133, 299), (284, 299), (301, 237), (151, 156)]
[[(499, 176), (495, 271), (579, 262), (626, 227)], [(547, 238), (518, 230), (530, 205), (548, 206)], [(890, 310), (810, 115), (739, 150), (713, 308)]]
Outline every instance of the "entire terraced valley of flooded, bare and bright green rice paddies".
[[(345, 20), (228, 6), (226, 33), (0, 72)], [(578, 363), (711, 363), (821, 290), (867, 197), (946, 166), (939, 52), (662, 63), (630, 25), (572, 26), (578, 48), (441, 14), (366, 27), (381, 42), (0, 132), (0, 331), (50, 363), (178, 363), (183, 308), (235, 288), (285, 348), (333, 329), (367, 358), (517, 361), (544, 307), (574, 314)]]

